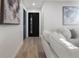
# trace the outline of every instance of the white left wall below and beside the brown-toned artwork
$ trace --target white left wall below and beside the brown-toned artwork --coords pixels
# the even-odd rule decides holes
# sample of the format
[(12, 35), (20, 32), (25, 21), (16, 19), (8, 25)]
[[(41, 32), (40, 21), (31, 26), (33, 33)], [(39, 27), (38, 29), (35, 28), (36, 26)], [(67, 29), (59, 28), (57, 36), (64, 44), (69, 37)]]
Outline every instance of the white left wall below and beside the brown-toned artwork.
[(0, 25), (0, 58), (15, 57), (23, 43), (23, 10), (21, 5), (20, 25)]

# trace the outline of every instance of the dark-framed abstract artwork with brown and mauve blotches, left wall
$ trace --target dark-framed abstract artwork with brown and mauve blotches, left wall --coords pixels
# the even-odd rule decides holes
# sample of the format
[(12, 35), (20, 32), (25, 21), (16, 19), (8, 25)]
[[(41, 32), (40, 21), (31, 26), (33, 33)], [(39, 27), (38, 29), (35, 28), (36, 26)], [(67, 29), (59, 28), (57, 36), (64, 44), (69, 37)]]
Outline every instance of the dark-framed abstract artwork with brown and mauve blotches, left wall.
[(20, 24), (20, 0), (1, 0), (0, 24)]

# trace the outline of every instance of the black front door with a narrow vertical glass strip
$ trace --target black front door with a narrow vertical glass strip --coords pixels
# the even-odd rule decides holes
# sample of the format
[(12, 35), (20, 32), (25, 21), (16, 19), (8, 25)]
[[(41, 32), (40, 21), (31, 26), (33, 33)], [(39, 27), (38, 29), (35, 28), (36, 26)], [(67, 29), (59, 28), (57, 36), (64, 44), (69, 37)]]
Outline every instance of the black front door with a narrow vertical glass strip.
[(39, 37), (39, 13), (28, 13), (28, 35)]

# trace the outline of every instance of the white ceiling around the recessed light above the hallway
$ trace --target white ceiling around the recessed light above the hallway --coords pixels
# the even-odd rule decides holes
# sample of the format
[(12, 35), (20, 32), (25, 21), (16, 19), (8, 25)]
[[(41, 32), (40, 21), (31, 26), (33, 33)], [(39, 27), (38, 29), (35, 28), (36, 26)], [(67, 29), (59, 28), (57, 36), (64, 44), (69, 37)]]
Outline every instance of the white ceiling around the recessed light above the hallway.
[[(27, 9), (41, 9), (45, 2), (53, 2), (53, 1), (79, 1), (79, 0), (22, 0), (24, 6)], [(33, 6), (32, 3), (35, 2), (36, 5)]]

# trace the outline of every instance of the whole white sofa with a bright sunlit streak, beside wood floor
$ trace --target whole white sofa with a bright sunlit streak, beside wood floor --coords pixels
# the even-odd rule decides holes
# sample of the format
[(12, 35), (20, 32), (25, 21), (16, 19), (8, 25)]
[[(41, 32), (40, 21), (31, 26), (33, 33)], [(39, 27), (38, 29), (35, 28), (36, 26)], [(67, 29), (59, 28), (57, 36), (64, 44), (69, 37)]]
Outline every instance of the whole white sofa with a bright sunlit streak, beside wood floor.
[(64, 35), (58, 32), (45, 31), (41, 38), (43, 49), (48, 58), (79, 57), (79, 47), (66, 40)]

